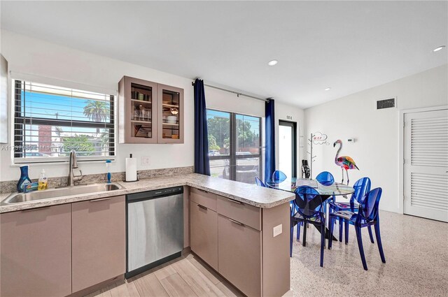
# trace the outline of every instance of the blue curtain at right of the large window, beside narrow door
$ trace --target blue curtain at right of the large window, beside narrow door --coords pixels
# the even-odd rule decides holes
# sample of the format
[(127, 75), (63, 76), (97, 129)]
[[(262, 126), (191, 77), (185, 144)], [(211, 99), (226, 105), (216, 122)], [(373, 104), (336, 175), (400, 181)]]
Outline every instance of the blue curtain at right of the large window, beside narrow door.
[(265, 132), (266, 132), (266, 150), (265, 150), (265, 181), (271, 180), (272, 173), (275, 171), (275, 113), (274, 99), (269, 99), (265, 103)]

